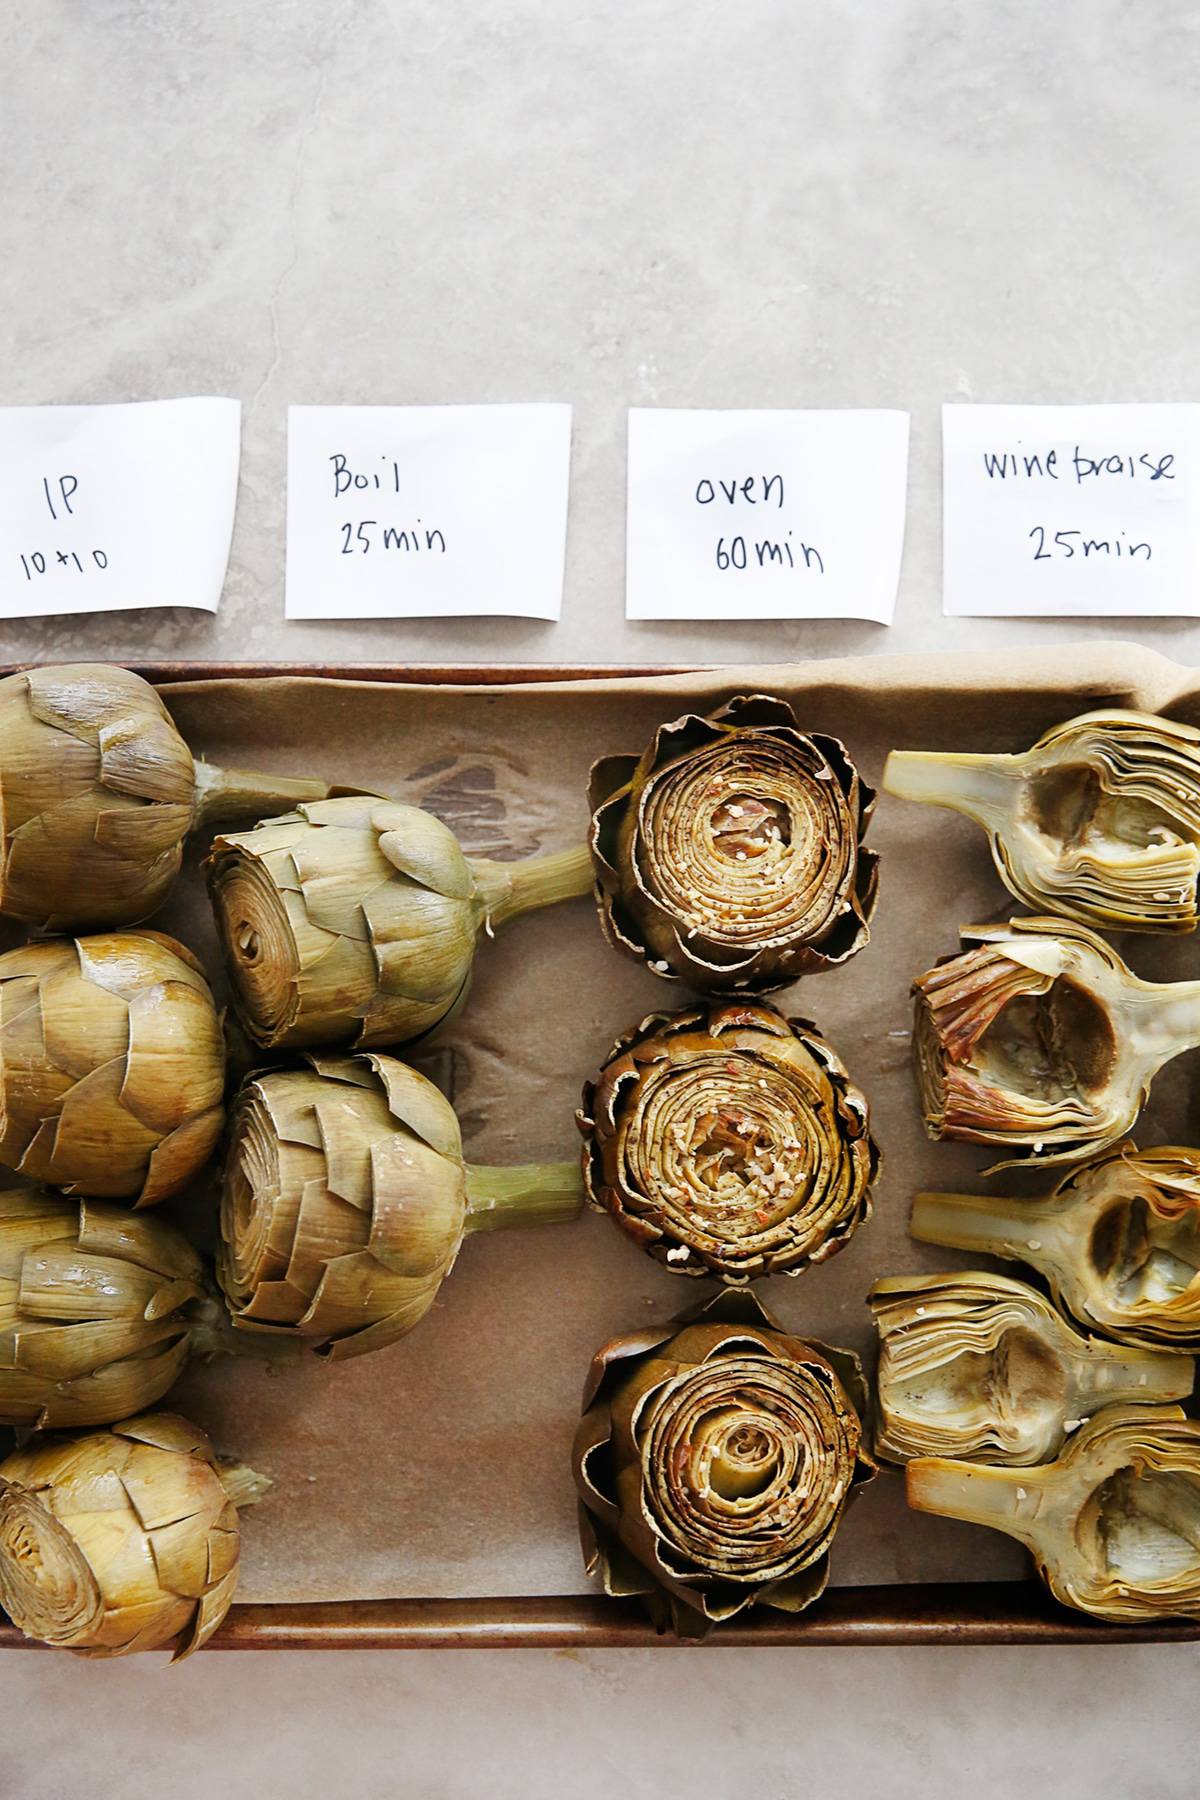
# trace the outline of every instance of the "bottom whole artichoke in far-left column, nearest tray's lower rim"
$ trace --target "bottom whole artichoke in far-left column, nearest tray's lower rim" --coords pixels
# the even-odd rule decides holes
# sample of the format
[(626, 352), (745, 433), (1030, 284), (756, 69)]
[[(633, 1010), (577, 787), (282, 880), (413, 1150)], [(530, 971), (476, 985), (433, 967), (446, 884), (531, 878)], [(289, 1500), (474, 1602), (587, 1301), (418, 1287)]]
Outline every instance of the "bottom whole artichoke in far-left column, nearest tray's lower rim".
[(79, 1656), (198, 1651), (237, 1586), (237, 1508), (270, 1481), (221, 1467), (203, 1431), (142, 1413), (0, 1463), (0, 1607)]

